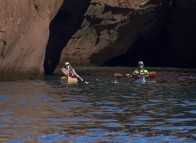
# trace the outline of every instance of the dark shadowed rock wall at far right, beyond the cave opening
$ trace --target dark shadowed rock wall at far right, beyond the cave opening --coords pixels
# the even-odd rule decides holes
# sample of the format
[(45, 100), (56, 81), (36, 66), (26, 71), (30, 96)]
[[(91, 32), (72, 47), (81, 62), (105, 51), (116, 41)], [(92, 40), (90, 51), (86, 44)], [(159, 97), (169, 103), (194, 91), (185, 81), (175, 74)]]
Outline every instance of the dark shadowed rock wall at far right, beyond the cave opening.
[(196, 1), (175, 0), (167, 23), (173, 65), (196, 68)]

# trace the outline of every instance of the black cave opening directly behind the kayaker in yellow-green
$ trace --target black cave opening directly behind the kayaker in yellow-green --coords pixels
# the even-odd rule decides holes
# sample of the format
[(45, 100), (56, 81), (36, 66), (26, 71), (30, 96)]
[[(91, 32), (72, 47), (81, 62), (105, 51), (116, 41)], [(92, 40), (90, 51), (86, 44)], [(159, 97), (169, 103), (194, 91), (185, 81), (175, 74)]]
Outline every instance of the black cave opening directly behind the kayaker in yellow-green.
[(156, 29), (150, 36), (137, 38), (125, 54), (110, 59), (104, 66), (135, 67), (140, 60), (144, 61), (145, 66), (169, 66), (170, 51), (166, 30)]

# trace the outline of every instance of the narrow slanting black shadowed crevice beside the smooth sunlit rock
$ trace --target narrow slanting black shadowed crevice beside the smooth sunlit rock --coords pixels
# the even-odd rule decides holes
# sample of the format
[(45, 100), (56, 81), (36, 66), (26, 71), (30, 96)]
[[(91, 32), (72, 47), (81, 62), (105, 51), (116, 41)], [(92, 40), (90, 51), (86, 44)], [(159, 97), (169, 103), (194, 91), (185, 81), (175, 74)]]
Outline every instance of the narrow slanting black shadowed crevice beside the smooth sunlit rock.
[(44, 61), (45, 74), (52, 74), (57, 67), (63, 48), (80, 28), (89, 4), (90, 0), (64, 0), (50, 24), (50, 36)]

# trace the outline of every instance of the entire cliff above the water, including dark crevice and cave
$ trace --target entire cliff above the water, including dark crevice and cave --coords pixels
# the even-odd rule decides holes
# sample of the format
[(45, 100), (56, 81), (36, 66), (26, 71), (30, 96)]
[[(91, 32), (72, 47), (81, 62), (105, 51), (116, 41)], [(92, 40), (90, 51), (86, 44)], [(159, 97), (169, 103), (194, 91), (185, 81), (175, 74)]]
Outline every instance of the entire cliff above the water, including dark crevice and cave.
[(64, 61), (195, 68), (195, 17), (195, 0), (1, 0), (0, 80)]

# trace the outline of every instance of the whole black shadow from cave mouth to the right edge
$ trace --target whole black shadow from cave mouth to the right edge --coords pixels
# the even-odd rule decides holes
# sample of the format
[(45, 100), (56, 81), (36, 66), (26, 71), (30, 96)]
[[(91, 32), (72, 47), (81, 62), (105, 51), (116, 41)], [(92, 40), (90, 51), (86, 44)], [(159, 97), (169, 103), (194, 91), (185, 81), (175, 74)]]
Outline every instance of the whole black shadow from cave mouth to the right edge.
[(152, 67), (196, 68), (196, 2), (189, 7), (178, 2), (173, 0), (169, 9), (160, 9), (158, 27), (104, 66), (137, 66), (143, 60)]

